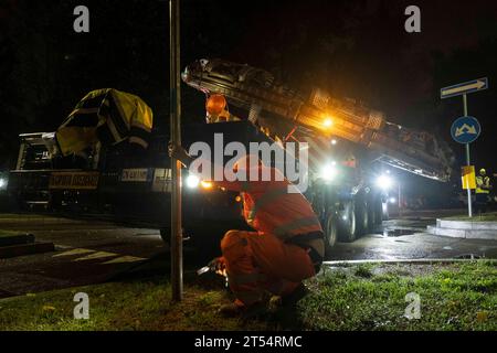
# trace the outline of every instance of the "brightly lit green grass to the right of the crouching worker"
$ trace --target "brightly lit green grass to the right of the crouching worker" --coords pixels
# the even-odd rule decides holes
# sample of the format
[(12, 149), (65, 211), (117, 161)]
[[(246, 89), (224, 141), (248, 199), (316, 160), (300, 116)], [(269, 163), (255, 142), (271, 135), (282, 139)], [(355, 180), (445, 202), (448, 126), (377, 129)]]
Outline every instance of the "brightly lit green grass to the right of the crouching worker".
[[(309, 282), (298, 303), (308, 330), (497, 330), (497, 263), (362, 265)], [(419, 296), (420, 319), (408, 319)], [(412, 297), (413, 298), (413, 297)], [(414, 313), (409, 310), (409, 313)]]

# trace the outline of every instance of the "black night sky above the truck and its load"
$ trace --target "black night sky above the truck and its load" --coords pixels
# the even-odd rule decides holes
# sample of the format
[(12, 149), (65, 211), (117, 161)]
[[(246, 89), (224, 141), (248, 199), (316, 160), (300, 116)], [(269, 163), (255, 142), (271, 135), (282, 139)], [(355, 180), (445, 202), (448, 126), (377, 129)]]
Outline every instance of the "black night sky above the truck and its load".
[[(73, 32), (73, 9), (86, 4), (91, 32)], [(404, 31), (416, 4), (422, 33)], [(494, 1), (182, 1), (182, 66), (200, 57), (245, 62), (308, 89), (363, 100), (390, 120), (450, 140), (462, 99), (440, 88), (489, 77), (469, 96), (483, 125), (473, 145), (479, 165), (495, 170), (497, 3)], [(54, 130), (89, 90), (115, 87), (141, 96), (157, 127), (169, 99), (167, 1), (1, 0), (0, 165), (15, 156), (17, 135)], [(183, 88), (183, 117), (203, 119), (203, 98)], [(453, 145), (463, 156), (462, 146)]]

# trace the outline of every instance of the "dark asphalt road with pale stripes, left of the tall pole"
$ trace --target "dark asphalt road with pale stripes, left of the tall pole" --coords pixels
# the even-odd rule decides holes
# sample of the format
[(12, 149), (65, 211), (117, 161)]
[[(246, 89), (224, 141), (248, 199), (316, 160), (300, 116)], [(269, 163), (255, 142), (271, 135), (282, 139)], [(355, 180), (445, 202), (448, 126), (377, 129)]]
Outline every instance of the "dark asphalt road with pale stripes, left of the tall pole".
[(34, 234), (56, 249), (0, 259), (0, 297), (102, 282), (167, 252), (157, 229), (96, 221), (0, 215), (0, 229)]

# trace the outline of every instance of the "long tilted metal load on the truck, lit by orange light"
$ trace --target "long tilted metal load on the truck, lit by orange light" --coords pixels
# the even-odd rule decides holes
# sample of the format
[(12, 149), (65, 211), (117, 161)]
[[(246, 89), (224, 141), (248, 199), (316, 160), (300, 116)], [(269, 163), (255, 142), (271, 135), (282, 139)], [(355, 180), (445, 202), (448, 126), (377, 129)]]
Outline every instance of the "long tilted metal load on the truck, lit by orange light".
[[(453, 157), (443, 141), (389, 122), (381, 111), (336, 99), (320, 89), (305, 98), (266, 71), (223, 60), (197, 61), (184, 69), (182, 79), (205, 94), (224, 95), (230, 104), (248, 111), (277, 116), (316, 138), (339, 137), (363, 146), (376, 152), (380, 162), (430, 179), (450, 179)], [(248, 118), (265, 127), (263, 119)]]

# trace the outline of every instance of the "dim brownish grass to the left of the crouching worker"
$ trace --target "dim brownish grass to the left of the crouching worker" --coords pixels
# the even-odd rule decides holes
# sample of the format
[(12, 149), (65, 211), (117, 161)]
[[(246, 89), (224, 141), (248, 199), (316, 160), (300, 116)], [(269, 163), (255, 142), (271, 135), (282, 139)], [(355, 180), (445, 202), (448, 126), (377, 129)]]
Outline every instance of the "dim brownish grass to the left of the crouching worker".
[[(89, 319), (75, 320), (74, 296), (89, 299)], [(216, 313), (229, 303), (228, 291), (187, 285), (183, 300), (171, 301), (171, 286), (159, 279), (109, 282), (0, 300), (0, 330), (264, 330), (254, 321), (224, 319)]]

